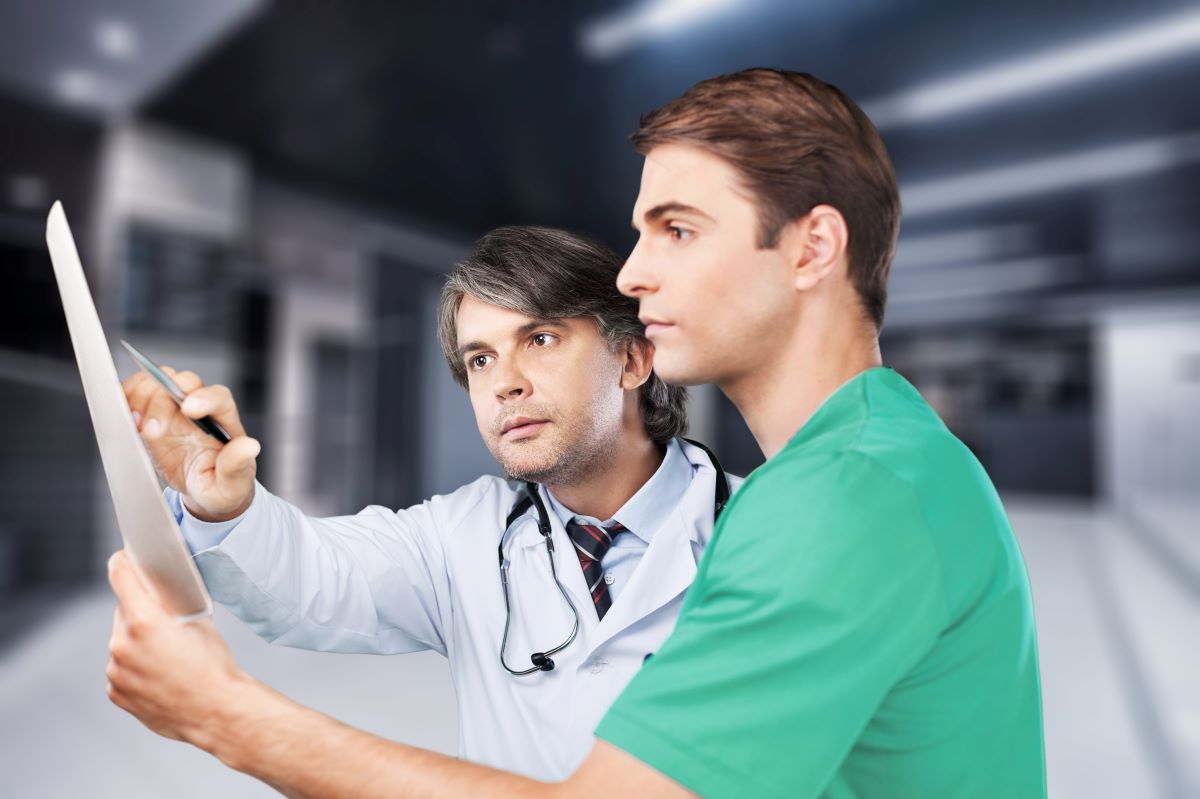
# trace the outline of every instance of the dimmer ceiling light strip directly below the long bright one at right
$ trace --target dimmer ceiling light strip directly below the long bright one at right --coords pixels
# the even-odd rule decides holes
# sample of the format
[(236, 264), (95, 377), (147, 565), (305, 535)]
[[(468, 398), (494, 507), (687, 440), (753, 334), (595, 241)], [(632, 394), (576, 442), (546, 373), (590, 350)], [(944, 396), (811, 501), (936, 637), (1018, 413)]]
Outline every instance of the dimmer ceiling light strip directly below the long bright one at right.
[(917, 184), (900, 193), (905, 218), (1159, 172), (1200, 161), (1200, 133), (1141, 139)]

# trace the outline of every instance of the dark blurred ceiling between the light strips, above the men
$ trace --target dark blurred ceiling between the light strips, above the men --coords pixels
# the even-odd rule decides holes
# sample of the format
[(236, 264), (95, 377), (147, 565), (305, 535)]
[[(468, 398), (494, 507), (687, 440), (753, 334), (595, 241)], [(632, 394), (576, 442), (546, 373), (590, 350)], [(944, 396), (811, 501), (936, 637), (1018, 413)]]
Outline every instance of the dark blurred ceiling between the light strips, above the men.
[[(803, 70), (866, 103), (1194, 6), (760, 0), (610, 60), (584, 56), (580, 26), (628, 5), (281, 2), (146, 113), (236, 144), (266, 174), (463, 238), (536, 222), (619, 248), (640, 170), (625, 137), (703, 77)], [(1198, 131), (1196, 70), (1196, 56), (1175, 58), (884, 136), (908, 182)]]

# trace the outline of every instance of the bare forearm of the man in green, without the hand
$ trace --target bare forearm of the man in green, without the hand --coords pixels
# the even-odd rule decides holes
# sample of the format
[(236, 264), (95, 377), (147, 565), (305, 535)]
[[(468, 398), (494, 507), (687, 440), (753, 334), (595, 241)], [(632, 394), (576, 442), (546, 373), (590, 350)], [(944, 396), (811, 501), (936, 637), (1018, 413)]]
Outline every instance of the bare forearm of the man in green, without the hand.
[(296, 799), (506, 797), (550, 799), (557, 787), (396, 744), (304, 708), (245, 678), (188, 735), (223, 763)]

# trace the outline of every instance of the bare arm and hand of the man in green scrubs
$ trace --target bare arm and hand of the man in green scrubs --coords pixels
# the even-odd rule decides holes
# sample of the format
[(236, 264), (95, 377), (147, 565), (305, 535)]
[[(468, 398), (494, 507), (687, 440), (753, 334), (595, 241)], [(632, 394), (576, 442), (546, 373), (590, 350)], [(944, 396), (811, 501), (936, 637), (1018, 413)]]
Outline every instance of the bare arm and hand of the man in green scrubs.
[(204, 749), (289, 797), (688, 795), (630, 755), (598, 744), (570, 780), (544, 783), (394, 744), (302, 708), (242, 672), (211, 620), (180, 624), (124, 552), (109, 560), (107, 693), (146, 727)]

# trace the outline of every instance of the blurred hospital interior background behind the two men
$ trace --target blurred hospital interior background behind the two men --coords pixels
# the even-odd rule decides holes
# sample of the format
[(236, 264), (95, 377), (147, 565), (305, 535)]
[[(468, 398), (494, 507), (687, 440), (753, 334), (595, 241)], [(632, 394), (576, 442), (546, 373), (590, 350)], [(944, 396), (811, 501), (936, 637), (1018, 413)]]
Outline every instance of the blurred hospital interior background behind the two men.
[[(1016, 530), (1050, 795), (1200, 795), (1184, 0), (0, 0), (0, 794), (274, 795), (104, 696), (120, 539), (44, 246), (56, 199), (109, 343), (230, 386), (265, 486), (312, 515), (402, 507), (497, 470), (437, 347), (442, 276), (499, 224), (628, 252), (638, 116), (750, 66), (838, 85), (892, 154), (884, 362)], [(716, 390), (690, 414), (731, 471), (761, 463)], [(455, 751), (438, 655), (216, 619), (288, 696)]]

